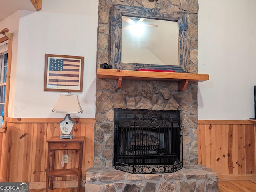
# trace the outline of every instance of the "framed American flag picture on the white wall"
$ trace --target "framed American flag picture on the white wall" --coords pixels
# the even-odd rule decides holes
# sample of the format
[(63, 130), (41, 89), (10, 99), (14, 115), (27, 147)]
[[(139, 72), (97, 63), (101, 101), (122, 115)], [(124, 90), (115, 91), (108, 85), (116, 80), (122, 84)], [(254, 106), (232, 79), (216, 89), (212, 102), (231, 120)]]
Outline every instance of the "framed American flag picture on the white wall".
[(84, 57), (45, 54), (44, 91), (83, 92)]

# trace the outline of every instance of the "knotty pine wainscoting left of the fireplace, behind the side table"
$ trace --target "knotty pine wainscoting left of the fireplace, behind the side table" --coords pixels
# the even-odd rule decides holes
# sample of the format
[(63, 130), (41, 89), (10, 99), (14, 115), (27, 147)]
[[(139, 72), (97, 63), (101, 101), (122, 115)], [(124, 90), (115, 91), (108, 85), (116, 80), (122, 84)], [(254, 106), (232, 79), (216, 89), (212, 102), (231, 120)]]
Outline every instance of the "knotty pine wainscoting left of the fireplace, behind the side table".
[[(94, 159), (95, 119), (73, 118), (78, 122), (72, 134), (85, 136), (82, 178)], [(7, 118), (7, 128), (0, 133), (0, 180), (4, 182), (29, 182), (30, 189), (45, 188), (47, 145), (52, 136), (59, 136), (61, 118)], [(78, 168), (75, 150), (56, 152), (55, 167), (61, 169), (62, 154), (68, 154), (63, 168)], [(58, 161), (57, 161), (58, 160)], [(77, 177), (57, 177), (55, 187), (74, 187)]]

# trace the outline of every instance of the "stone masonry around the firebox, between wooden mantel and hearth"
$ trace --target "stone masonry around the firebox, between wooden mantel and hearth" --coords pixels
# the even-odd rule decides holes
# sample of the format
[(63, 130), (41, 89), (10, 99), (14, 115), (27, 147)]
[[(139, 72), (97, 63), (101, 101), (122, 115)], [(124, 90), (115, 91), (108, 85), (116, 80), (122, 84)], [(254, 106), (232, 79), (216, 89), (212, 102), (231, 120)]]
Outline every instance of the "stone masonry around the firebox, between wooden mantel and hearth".
[(180, 110), (183, 127), (183, 163), (197, 165), (197, 84), (178, 91), (177, 82), (97, 79), (94, 165), (113, 166), (114, 108), (134, 110)]

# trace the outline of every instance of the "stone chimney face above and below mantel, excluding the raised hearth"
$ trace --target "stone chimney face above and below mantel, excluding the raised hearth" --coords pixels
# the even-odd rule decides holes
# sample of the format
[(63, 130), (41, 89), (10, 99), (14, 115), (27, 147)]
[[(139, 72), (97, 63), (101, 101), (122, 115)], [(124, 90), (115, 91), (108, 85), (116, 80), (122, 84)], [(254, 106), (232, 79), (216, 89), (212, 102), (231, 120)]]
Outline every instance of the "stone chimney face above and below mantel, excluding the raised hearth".
[[(188, 13), (189, 72), (197, 72), (197, 0), (100, 0), (98, 17), (97, 68), (110, 63), (110, 14), (112, 4), (158, 8)], [(96, 126), (94, 165), (113, 166), (114, 109), (180, 110), (183, 128), (183, 163), (197, 165), (197, 83), (178, 91), (177, 82), (96, 78)]]

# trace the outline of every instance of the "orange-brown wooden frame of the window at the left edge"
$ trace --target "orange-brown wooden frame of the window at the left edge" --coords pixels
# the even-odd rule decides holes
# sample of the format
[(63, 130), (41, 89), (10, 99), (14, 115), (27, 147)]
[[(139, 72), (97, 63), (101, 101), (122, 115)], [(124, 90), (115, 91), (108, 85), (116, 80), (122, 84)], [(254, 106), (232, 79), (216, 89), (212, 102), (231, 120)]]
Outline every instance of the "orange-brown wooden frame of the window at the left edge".
[(6, 90), (4, 101), (4, 123), (1, 127), (6, 127), (6, 118), (8, 116), (9, 94), (10, 94), (10, 74), (11, 74), (11, 61), (12, 61), (12, 33), (8, 33), (8, 37), (0, 38), (0, 43), (8, 41), (8, 58), (7, 58), (7, 72), (6, 72)]

